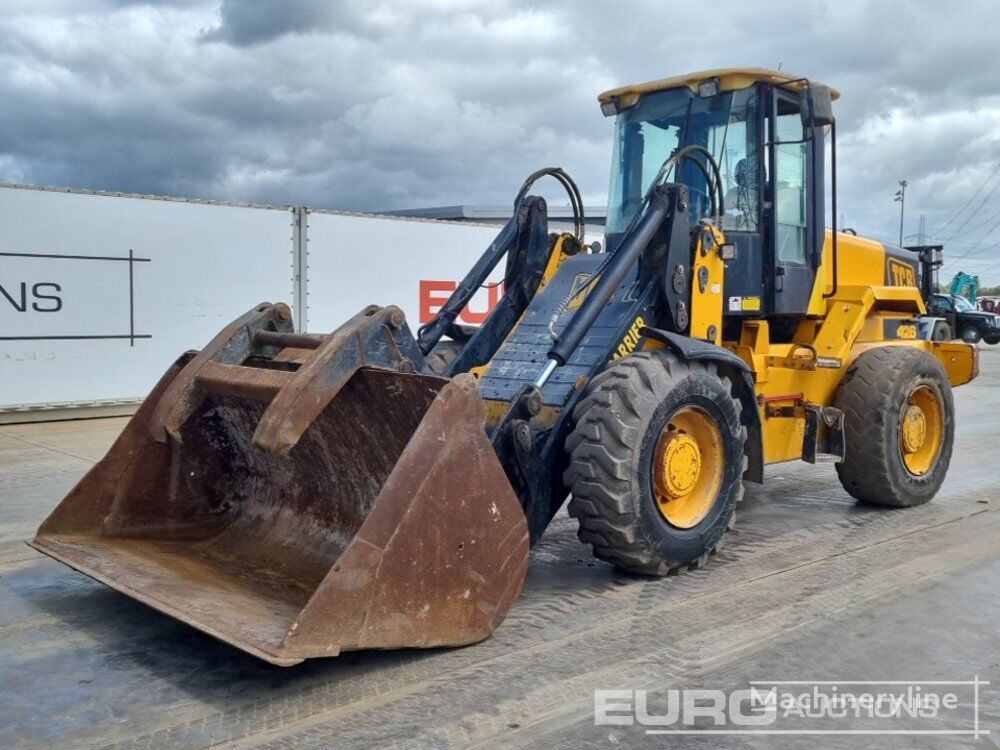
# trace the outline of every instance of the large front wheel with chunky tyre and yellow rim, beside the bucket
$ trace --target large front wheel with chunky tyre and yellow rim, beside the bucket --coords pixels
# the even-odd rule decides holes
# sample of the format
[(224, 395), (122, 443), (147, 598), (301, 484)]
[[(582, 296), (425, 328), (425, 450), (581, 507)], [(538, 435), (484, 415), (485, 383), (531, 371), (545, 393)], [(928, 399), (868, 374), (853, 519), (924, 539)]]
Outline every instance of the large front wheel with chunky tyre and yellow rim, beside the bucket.
[(729, 380), (713, 363), (640, 352), (596, 376), (573, 418), (564, 481), (580, 541), (634, 573), (701, 567), (743, 498), (746, 431)]

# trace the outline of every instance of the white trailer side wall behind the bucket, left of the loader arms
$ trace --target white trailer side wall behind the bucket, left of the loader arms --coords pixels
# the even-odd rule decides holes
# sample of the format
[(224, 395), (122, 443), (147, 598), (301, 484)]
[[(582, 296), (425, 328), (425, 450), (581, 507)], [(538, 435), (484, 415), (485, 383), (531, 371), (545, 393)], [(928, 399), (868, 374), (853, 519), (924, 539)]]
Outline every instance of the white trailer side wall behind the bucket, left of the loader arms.
[(496, 231), (2, 185), (0, 421), (128, 413), (182, 352), (262, 301), (288, 302), (313, 331), (398, 304), (416, 329)]

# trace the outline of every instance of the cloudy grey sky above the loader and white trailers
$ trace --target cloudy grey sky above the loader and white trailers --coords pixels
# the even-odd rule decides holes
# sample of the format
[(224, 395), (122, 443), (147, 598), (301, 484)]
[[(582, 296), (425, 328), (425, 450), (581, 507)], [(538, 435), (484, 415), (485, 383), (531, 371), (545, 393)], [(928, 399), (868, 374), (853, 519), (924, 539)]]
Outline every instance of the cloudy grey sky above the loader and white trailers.
[[(839, 212), (921, 213), (1000, 283), (995, 2), (4, 0), (0, 181), (324, 208), (603, 203), (615, 85), (760, 65), (839, 88)], [(555, 198), (558, 194), (551, 193)], [(915, 241), (915, 238), (910, 238)]]

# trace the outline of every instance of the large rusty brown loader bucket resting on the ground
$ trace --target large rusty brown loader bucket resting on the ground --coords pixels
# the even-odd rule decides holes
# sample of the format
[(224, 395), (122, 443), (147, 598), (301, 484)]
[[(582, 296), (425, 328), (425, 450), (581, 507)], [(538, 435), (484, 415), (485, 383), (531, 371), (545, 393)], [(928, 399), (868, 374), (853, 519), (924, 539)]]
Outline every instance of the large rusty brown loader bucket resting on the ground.
[(279, 665), (489, 636), (528, 532), (474, 379), (352, 359), (354, 329), (241, 321), (178, 360), (31, 545)]

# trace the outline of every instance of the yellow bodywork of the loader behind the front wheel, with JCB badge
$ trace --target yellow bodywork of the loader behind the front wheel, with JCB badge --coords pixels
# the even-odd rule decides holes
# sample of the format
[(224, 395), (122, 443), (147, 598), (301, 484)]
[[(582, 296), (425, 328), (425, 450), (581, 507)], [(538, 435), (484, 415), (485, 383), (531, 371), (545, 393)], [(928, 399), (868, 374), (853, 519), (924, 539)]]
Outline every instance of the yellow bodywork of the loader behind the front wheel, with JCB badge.
[[(723, 235), (714, 231), (721, 245)], [(952, 386), (968, 383), (979, 374), (976, 347), (918, 338), (916, 318), (926, 308), (913, 264), (889, 254), (882, 243), (840, 234), (835, 285), (831, 240), (828, 231), (810, 315), (799, 323), (794, 342), (773, 342), (765, 317), (745, 320), (738, 340), (716, 342), (753, 370), (765, 463), (802, 458), (806, 405), (832, 405), (847, 369), (869, 349), (892, 345), (929, 351), (944, 366)], [(699, 263), (712, 265), (710, 289), (716, 284), (721, 287), (724, 262), (714, 253), (714, 261), (702, 261), (701, 255), (696, 253), (695, 268)], [(887, 280), (898, 283), (887, 284)], [(707, 332), (719, 326), (722, 305), (721, 294), (693, 290), (693, 336), (710, 338)], [(646, 348), (662, 346), (655, 340), (645, 343)]]

